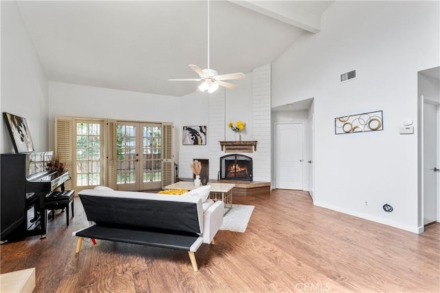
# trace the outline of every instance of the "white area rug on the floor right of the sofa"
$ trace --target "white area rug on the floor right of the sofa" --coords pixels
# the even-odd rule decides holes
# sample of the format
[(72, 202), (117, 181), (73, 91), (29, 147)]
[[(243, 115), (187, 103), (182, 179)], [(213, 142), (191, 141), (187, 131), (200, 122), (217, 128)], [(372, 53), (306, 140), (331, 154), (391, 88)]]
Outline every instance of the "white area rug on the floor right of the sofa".
[(223, 225), (221, 225), (220, 230), (245, 232), (254, 207), (244, 204), (232, 204), (232, 208), (223, 217)]

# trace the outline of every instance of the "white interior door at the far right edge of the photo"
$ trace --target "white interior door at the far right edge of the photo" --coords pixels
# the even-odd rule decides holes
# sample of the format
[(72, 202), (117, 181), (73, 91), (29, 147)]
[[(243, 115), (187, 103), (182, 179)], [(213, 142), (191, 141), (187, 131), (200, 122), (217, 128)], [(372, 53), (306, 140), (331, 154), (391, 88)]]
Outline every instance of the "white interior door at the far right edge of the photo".
[(439, 219), (437, 106), (423, 103), (423, 225)]

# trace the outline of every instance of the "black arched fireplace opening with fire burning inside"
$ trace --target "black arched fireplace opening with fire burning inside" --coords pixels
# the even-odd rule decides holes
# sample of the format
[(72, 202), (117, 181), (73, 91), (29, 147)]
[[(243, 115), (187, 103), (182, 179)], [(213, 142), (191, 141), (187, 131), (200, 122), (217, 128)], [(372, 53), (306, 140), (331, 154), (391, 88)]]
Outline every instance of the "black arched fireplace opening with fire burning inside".
[(220, 179), (252, 181), (252, 158), (247, 155), (223, 155), (220, 158)]

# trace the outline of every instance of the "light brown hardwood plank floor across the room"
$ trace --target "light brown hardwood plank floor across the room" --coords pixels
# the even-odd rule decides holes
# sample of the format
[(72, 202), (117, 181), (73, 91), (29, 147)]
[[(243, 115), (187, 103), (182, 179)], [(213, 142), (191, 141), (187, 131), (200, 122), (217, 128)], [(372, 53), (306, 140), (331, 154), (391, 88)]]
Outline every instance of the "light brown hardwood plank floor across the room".
[[(188, 253), (126, 243), (84, 242), (75, 217), (50, 221), (47, 239), (1, 246), (1, 273), (36, 268), (34, 292), (440, 292), (440, 224), (417, 235), (313, 206), (308, 193), (274, 190), (234, 197), (255, 206), (245, 233), (219, 231)], [(59, 213), (59, 210), (57, 211)]]

